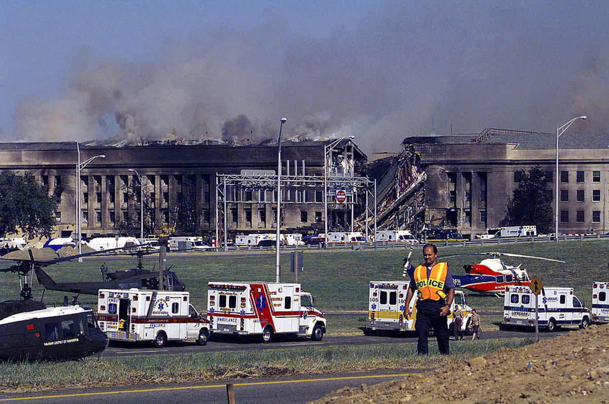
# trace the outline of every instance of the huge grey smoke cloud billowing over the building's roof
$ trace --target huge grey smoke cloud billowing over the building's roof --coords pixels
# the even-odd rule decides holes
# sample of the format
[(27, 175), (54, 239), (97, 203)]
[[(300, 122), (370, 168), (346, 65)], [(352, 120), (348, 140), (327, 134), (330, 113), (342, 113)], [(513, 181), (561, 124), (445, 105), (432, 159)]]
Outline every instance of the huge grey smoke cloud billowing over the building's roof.
[[(609, 2), (396, 2), (328, 37), (276, 15), (167, 39), (149, 63), (74, 50), (52, 99), (21, 100), (18, 136), (76, 140), (406, 136), (485, 127), (609, 131)], [(433, 122), (433, 124), (432, 124)]]

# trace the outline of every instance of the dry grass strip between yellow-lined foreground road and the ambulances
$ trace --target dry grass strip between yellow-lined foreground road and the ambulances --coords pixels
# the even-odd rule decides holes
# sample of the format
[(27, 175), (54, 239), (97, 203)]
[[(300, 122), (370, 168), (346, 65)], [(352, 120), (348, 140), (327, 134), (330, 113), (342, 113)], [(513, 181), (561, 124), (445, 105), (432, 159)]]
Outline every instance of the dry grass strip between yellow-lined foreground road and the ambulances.
[(291, 347), (242, 352), (205, 352), (82, 361), (4, 363), (0, 392), (24, 392), (148, 383), (188, 383), (223, 378), (323, 374), (371, 369), (420, 369), (484, 355), (502, 347), (521, 347), (530, 338), (451, 344), (451, 356), (439, 355), (430, 344), (429, 357), (416, 355), (416, 344)]

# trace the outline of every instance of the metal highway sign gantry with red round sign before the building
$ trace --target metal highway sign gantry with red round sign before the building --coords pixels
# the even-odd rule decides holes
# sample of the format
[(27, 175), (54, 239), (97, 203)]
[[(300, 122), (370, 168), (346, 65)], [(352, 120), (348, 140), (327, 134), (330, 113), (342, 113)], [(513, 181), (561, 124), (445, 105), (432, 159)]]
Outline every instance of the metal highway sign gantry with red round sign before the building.
[[(281, 175), (281, 188), (283, 189), (316, 189), (323, 190), (326, 184), (324, 175)], [(327, 177), (328, 193), (326, 201), (330, 197), (336, 195), (337, 190), (345, 190), (347, 199), (342, 205), (350, 205), (353, 209), (357, 203), (357, 193), (362, 191), (365, 195), (365, 225), (364, 231), (366, 238), (368, 234), (376, 231), (376, 181), (372, 181), (361, 176), (328, 176)], [(216, 246), (219, 245), (219, 240), (222, 239), (224, 249), (227, 249), (228, 243), (228, 204), (245, 203), (236, 197), (238, 193), (229, 192), (229, 187), (237, 187), (241, 190), (276, 190), (277, 175), (273, 170), (262, 170), (259, 175), (247, 174), (216, 174)], [(273, 193), (274, 198), (275, 193)], [(374, 203), (370, 203), (373, 200)], [(275, 204), (276, 200), (260, 202), (261, 204)], [(306, 201), (291, 201), (283, 200), (282, 204), (298, 204), (306, 205)], [(339, 203), (332, 202), (339, 205)], [(328, 220), (328, 212), (324, 209), (323, 220)], [(352, 219), (353, 220), (353, 219)], [(280, 226), (281, 227), (281, 226)], [(327, 239), (327, 235), (325, 235)]]

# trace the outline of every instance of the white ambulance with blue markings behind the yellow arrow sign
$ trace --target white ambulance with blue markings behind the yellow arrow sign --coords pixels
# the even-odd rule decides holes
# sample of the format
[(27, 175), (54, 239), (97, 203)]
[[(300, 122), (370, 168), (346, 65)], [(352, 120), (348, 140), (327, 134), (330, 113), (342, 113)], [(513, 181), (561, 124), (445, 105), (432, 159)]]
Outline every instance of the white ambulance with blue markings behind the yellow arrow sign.
[[(553, 332), (557, 326), (590, 324), (590, 310), (573, 294), (573, 288), (544, 287), (538, 296), (539, 326)], [(503, 322), (510, 326), (535, 327), (535, 294), (528, 286), (505, 287)]]

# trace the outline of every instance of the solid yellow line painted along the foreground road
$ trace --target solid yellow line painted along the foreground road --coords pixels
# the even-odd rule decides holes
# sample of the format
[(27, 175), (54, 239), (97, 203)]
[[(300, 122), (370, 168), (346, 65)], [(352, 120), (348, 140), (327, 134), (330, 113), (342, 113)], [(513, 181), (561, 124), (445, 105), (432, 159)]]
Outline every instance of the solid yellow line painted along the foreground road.
[[(364, 376), (347, 376), (347, 377), (323, 377), (301, 380), (278, 380), (278, 381), (251, 381), (249, 383), (233, 383), (233, 386), (255, 386), (255, 385), (280, 385), (285, 383), (303, 383), (305, 381), (329, 381), (329, 380), (352, 380), (358, 378), (375, 378), (375, 377), (404, 377), (410, 373), (398, 373), (390, 375), (364, 375)], [(125, 394), (125, 393), (141, 393), (152, 391), (172, 391), (172, 390), (188, 390), (188, 389), (209, 389), (217, 387), (225, 387), (227, 383), (222, 385), (204, 385), (204, 386), (184, 386), (184, 387), (160, 387), (153, 389), (138, 389), (138, 390), (122, 390), (122, 391), (100, 391), (94, 393), (75, 393), (75, 394), (54, 394), (54, 395), (37, 395), (35, 397), (14, 397), (12, 399), (0, 399), (2, 401), (16, 400), (38, 400), (38, 399), (57, 399), (60, 397), (83, 397), (90, 395), (109, 395), (109, 394)]]

